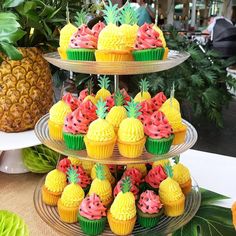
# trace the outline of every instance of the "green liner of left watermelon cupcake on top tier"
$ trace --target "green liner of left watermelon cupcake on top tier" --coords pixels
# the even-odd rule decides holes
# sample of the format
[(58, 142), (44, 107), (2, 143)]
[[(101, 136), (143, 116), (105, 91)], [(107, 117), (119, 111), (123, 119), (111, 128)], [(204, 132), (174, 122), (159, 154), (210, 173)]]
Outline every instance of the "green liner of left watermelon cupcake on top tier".
[(66, 55), (68, 60), (76, 61), (95, 61), (95, 50), (94, 49), (67, 49)]

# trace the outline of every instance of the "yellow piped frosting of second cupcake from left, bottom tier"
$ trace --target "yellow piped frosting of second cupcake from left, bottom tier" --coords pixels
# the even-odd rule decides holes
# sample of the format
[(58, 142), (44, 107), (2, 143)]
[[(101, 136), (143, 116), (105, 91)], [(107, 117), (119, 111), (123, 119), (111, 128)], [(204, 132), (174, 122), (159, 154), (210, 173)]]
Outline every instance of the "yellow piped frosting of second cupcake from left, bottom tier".
[(75, 183), (67, 185), (61, 195), (61, 202), (66, 207), (79, 207), (83, 199), (84, 191)]

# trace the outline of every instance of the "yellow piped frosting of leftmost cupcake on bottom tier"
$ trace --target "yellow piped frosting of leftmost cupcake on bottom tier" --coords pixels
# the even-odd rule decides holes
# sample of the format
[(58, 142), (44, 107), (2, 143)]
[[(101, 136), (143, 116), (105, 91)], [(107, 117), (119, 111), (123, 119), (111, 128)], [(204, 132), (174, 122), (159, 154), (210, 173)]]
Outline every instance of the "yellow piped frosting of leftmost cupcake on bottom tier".
[(66, 174), (57, 169), (50, 171), (45, 179), (45, 187), (54, 193), (62, 192), (66, 187)]

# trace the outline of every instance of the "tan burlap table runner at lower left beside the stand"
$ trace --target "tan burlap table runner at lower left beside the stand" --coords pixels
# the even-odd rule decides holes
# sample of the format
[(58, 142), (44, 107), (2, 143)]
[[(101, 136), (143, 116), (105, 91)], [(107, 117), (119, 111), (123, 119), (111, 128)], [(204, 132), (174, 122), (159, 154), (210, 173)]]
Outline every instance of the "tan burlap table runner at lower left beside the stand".
[(29, 226), (30, 236), (58, 236), (61, 234), (41, 220), (34, 208), (34, 189), (42, 176), (0, 172), (0, 210), (9, 210), (21, 216)]

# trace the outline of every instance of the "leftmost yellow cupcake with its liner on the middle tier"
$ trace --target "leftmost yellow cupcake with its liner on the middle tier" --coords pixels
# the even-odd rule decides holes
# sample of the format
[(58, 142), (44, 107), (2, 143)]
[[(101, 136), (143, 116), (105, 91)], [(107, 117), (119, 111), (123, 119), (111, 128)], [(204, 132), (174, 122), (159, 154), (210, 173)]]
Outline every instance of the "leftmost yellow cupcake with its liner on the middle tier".
[(65, 117), (71, 112), (71, 108), (63, 100), (54, 104), (49, 110), (48, 129), (52, 139), (63, 140), (62, 129)]

